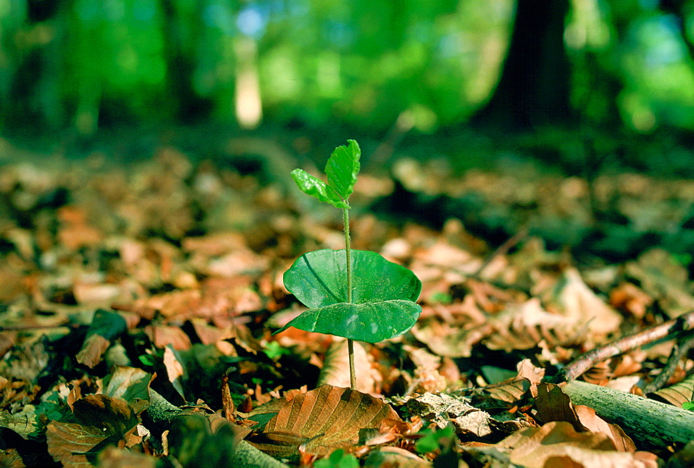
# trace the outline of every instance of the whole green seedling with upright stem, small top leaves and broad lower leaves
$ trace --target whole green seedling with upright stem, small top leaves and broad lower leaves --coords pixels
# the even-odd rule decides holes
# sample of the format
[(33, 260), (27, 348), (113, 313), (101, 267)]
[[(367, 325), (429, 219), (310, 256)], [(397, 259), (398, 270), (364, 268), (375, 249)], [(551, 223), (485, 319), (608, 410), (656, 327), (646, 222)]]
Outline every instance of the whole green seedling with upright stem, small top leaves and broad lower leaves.
[(342, 210), (345, 248), (307, 252), (294, 261), (285, 272), (285, 287), (309, 309), (275, 332), (296, 327), (347, 338), (353, 389), (354, 340), (378, 343), (400, 336), (422, 311), (414, 302), (422, 283), (412, 271), (376, 252), (350, 248), (349, 197), (361, 154), (354, 140), (335, 148), (325, 164), (327, 183), (301, 169), (291, 171), (301, 191)]

